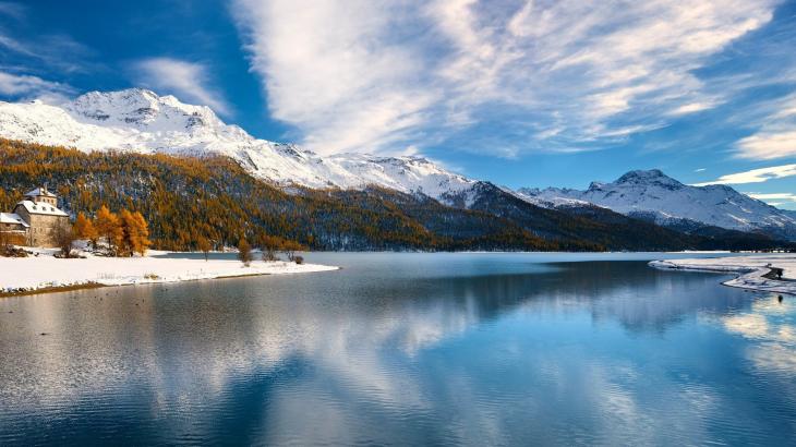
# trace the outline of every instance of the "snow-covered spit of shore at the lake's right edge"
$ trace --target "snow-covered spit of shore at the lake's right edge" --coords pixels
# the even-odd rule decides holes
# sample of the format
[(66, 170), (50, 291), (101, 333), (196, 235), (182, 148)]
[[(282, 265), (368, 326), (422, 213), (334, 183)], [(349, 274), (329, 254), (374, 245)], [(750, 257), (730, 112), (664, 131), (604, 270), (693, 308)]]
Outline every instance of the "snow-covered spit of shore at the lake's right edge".
[[(725, 281), (723, 285), (741, 289), (796, 294), (796, 254), (653, 261), (650, 266), (663, 269), (737, 273), (740, 274), (737, 278)], [(763, 275), (771, 271), (769, 267), (782, 268), (783, 280), (763, 277)]]

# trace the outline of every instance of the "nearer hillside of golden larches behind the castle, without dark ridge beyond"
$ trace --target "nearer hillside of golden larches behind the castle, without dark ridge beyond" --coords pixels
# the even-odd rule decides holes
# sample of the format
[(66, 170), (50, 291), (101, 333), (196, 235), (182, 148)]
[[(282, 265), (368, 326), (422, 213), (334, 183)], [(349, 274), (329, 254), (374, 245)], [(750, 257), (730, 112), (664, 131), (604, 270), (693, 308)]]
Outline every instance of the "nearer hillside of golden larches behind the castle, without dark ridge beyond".
[[(218, 247), (262, 234), (315, 250), (600, 250), (583, 241), (551, 241), (498, 217), (446, 207), (395, 191), (302, 190), (288, 194), (227, 157), (85, 154), (0, 141), (0, 207), (31, 184), (57, 185), (62, 207), (94, 213), (140, 210), (155, 247), (194, 249), (198, 235)], [(424, 221), (420, 221), (420, 220)], [(455, 226), (443, 225), (455, 221)], [(425, 225), (423, 225), (425, 224)]]

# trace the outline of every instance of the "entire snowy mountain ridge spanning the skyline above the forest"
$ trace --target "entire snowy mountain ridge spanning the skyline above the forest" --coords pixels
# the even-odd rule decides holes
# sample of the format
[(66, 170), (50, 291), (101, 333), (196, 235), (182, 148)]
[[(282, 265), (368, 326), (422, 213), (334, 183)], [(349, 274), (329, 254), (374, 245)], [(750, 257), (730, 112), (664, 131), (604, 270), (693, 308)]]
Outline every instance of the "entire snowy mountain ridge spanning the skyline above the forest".
[[(599, 213), (587, 208), (595, 205), (677, 231), (708, 226), (796, 240), (796, 213), (780, 210), (726, 185), (689, 186), (659, 169), (628, 171), (614, 182), (592, 182), (584, 191), (490, 189), (423, 157), (319, 156), (294, 144), (258, 140), (225, 123), (206, 106), (183, 104), (174, 96), (143, 88), (89, 92), (61, 105), (0, 102), (0, 136), (83, 152), (219, 155), (279, 188), (377, 186), (424, 194), (463, 209), (477, 205), (483, 194), (493, 196), (491, 203), (507, 204), (507, 197), (495, 202), (494, 196), (509, 194), (540, 208), (570, 214), (594, 216)], [(688, 204), (699, 205), (685, 209)]]

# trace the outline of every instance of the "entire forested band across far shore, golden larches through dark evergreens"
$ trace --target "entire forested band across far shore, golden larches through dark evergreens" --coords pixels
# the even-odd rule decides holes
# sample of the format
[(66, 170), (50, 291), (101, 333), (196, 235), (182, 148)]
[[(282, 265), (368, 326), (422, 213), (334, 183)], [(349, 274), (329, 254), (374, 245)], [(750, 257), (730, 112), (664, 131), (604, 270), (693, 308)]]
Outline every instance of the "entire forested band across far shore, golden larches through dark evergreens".
[[(466, 209), (378, 188), (288, 192), (219, 156), (83, 153), (0, 140), (0, 209), (10, 210), (25, 191), (44, 183), (73, 216), (95, 219), (102, 206), (141, 214), (152, 247), (159, 250), (207, 243), (218, 250), (241, 240), (263, 246), (274, 238), (334, 251), (684, 250), (723, 243), (611, 212), (567, 215), (539, 208), (493, 191), (490, 183)], [(779, 244), (759, 235), (739, 243)]]

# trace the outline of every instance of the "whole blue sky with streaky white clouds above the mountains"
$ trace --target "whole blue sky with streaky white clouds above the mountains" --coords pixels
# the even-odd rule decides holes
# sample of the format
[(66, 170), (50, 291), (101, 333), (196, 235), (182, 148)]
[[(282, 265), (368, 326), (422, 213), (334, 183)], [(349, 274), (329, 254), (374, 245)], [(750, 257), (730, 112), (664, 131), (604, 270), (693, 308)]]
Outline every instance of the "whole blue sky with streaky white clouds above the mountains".
[(796, 1), (0, 1), (0, 100), (128, 87), (319, 154), (796, 209)]

